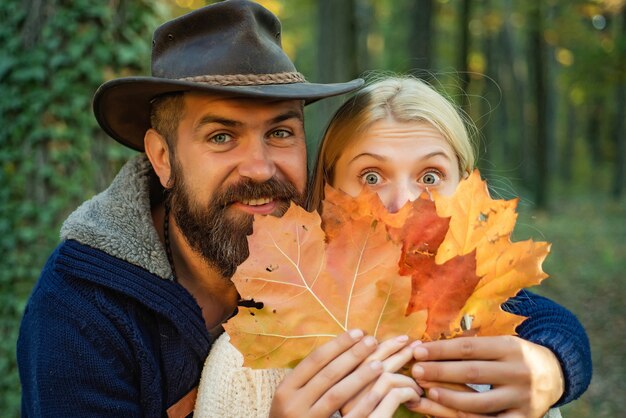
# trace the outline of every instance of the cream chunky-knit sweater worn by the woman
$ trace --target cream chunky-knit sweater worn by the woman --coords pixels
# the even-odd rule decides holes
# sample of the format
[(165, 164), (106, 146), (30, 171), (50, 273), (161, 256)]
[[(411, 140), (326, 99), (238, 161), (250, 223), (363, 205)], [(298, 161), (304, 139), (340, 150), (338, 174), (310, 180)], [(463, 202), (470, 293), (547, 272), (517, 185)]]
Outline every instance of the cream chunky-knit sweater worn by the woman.
[[(215, 341), (204, 363), (194, 417), (266, 418), (278, 384), (289, 369), (243, 367), (243, 355), (225, 332)], [(332, 418), (341, 417), (337, 412)], [(551, 409), (544, 418), (561, 418)]]

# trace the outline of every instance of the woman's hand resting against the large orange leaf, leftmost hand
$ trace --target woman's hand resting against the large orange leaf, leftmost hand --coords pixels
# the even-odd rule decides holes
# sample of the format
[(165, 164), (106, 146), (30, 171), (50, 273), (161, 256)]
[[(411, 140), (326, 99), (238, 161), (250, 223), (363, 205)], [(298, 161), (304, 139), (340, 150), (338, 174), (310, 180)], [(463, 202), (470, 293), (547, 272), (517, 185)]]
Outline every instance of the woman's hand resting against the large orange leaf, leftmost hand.
[[(270, 417), (331, 416), (383, 373), (380, 361), (365, 361), (376, 347), (376, 339), (360, 330), (318, 347), (278, 386)], [(365, 408), (365, 415), (377, 405)]]

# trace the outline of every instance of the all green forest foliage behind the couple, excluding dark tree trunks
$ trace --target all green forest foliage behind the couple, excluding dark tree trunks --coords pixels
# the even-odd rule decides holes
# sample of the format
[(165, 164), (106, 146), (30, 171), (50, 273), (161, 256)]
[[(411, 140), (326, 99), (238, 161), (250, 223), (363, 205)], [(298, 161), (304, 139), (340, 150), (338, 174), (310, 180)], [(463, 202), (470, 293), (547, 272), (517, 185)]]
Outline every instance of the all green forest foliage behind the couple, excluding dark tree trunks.
[[(328, 1), (328, 0), (326, 0)], [(333, 0), (339, 1), (339, 0)], [(357, 14), (370, 13), (369, 33), (359, 48), (360, 70), (409, 71), (411, 24), (407, 10), (417, 0), (355, 0)], [(107, 187), (134, 152), (97, 126), (91, 98), (104, 81), (149, 74), (153, 30), (171, 16), (205, 0), (3, 0), (0, 2), (0, 412), (19, 416), (15, 362), (19, 321), (59, 228), (77, 205)], [(259, 0), (283, 22), (283, 46), (309, 79), (320, 80), (318, 5), (322, 0)], [(459, 5), (434, 0), (437, 36), (432, 69), (457, 97)], [(623, 392), (626, 339), (623, 317), (626, 271), (626, 202), (609, 198), (616, 161), (615, 91), (625, 83), (626, 36), (618, 13), (604, 4), (620, 0), (547, 0), (544, 37), (553, 63), (549, 88), (555, 98), (552, 144), (552, 204), (537, 212), (524, 159), (533, 120), (523, 115), (528, 92), (511, 88), (513, 70), (526, 74), (528, 8), (535, 2), (474, 0), (469, 22), (472, 47), (468, 112), (481, 131), (481, 171), (502, 196), (521, 195), (519, 239), (553, 242), (540, 287), (574, 311), (592, 343), (595, 375), (589, 391), (563, 409), (564, 416), (611, 418), (626, 410)], [(623, 1), (622, 1), (623, 3)], [(607, 28), (594, 29), (594, 16)], [(623, 13), (622, 13), (623, 15)], [(508, 20), (507, 20), (508, 19)], [(622, 17), (622, 19), (624, 19)], [(514, 62), (500, 57), (489, 73), (486, 42), (508, 22), (514, 30)], [(361, 22), (363, 24), (364, 22)], [(625, 25), (626, 22), (622, 22)], [(493, 41), (493, 39), (491, 39)], [(363, 51), (361, 51), (363, 52)], [(568, 57), (574, 60), (569, 61)], [(480, 74), (488, 73), (488, 77)], [(530, 81), (527, 81), (530, 83)], [(439, 87), (442, 87), (439, 86)], [(494, 87), (496, 90), (494, 94)], [(340, 101), (333, 102), (334, 105)], [(309, 106), (307, 133), (319, 137), (332, 107)], [(326, 113), (324, 113), (326, 112)], [(595, 115), (595, 116), (594, 116)], [(621, 133), (624, 135), (624, 133)], [(313, 154), (311, 154), (311, 157)], [(528, 165), (528, 167), (527, 167)], [(611, 324), (608, 328), (606, 324)]]

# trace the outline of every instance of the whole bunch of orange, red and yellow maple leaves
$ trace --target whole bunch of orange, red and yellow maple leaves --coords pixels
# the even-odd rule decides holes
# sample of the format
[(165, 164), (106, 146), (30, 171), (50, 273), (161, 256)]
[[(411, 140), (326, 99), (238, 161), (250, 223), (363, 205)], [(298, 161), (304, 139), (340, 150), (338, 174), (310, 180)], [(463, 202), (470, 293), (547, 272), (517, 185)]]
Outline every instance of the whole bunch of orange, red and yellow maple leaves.
[(550, 248), (511, 242), (516, 206), (475, 171), (453, 196), (424, 193), (393, 214), (375, 193), (328, 187), (321, 217), (296, 205), (256, 217), (233, 281), (258, 306), (225, 329), (253, 368), (294, 367), (353, 328), (379, 341), (513, 335), (524, 318), (501, 305), (547, 277)]

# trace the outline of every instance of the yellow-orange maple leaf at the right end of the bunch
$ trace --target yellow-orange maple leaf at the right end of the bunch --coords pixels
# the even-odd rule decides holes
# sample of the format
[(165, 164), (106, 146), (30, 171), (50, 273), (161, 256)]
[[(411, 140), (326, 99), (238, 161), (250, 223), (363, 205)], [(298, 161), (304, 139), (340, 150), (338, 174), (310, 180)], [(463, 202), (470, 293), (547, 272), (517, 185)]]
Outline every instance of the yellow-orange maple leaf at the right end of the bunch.
[[(455, 319), (449, 335), (463, 333), (462, 321), (471, 322), (472, 335), (511, 335), (524, 317), (501, 305), (521, 289), (547, 277), (541, 264), (550, 251), (546, 242), (511, 242), (517, 199), (492, 199), (478, 170), (462, 181), (451, 197), (434, 194), (437, 213), (450, 217), (450, 228), (437, 252), (437, 263), (475, 253), (480, 280)], [(429, 312), (429, 315), (433, 315)]]

